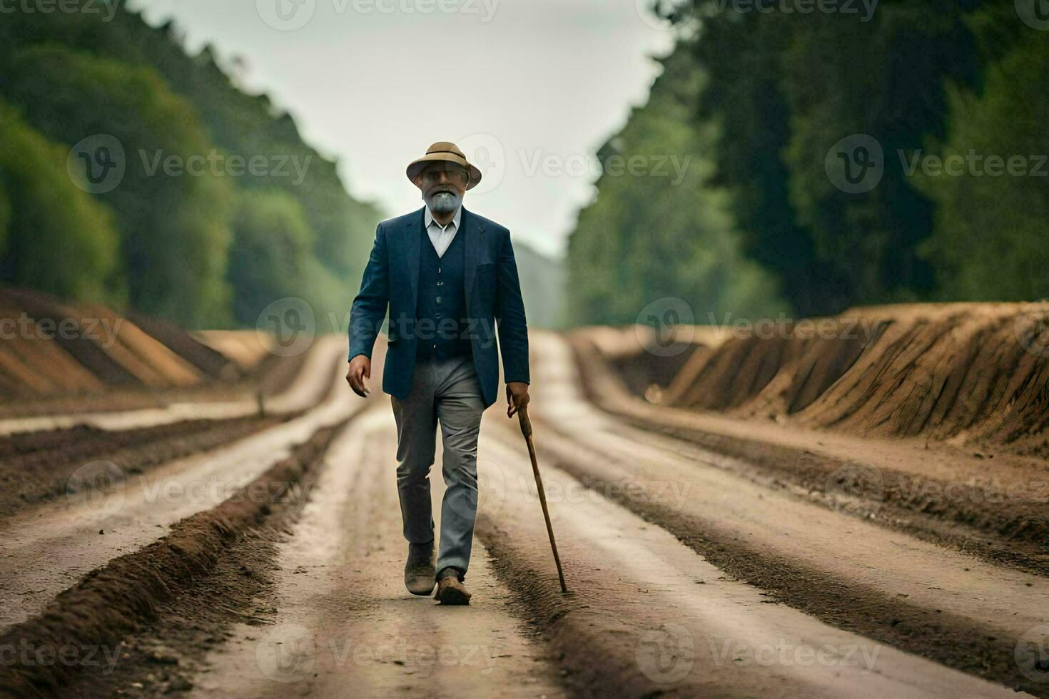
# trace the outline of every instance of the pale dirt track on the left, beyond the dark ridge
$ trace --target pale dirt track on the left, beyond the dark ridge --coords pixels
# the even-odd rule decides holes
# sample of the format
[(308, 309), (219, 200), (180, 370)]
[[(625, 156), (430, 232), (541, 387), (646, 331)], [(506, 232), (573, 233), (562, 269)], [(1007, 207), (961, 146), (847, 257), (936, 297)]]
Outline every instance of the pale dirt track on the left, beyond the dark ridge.
[[(341, 351), (341, 350), (340, 350)], [(319, 429), (345, 419), (366, 401), (342, 386), (330, 355), (320, 380), (326, 397), (302, 416), (235, 443), (177, 459), (112, 487), (18, 512), (0, 522), (0, 629), (38, 613), (47, 602), (113, 556), (163, 537), (174, 522), (223, 502)], [(47, 552), (47, 558), (40, 555)]]

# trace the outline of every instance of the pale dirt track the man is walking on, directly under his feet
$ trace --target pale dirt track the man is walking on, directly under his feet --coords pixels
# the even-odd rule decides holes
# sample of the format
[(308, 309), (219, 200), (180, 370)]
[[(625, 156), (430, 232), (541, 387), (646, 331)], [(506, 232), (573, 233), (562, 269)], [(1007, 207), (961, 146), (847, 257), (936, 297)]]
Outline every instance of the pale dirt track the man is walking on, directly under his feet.
[[(281, 547), (274, 625), (237, 627), (236, 640), (211, 655), (214, 671), (194, 682), (195, 696), (562, 696), (542, 650), (510, 614), (481, 544), (467, 576), (469, 607), (404, 589), (394, 454), (386, 406), (340, 436)], [(438, 459), (438, 530), (440, 473)]]

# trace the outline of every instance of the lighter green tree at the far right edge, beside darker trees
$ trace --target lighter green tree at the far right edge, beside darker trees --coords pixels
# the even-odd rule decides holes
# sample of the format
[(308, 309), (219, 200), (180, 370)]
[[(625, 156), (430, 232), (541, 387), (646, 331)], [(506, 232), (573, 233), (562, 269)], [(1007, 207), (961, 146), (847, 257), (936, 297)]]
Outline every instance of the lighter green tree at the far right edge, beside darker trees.
[[(936, 232), (923, 252), (940, 270), (944, 299), (1049, 296), (1046, 74), (1049, 43), (1030, 32), (991, 66), (981, 94), (950, 90), (949, 135), (934, 149), (944, 161), (954, 157), (961, 174), (919, 171), (917, 178), (938, 204)], [(962, 159), (968, 162), (960, 167)]]

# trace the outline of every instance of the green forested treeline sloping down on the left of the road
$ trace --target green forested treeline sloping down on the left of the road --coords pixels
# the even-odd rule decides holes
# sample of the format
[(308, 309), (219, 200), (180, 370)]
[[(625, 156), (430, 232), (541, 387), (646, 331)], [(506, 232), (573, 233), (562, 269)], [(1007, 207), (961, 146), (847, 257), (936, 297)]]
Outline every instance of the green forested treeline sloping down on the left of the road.
[(62, 5), (0, 20), (0, 282), (189, 327), (282, 297), (341, 319), (376, 206), (171, 24)]

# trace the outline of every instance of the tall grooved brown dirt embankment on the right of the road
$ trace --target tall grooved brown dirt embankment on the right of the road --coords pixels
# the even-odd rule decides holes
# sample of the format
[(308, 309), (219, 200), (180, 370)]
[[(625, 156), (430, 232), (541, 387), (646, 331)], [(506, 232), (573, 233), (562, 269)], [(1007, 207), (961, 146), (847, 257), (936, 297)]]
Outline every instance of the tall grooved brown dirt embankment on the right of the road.
[[(701, 341), (683, 363), (620, 334), (634, 366), (680, 364), (664, 405), (1049, 457), (1049, 303), (878, 306), (755, 324)], [(608, 358), (622, 365), (628, 353)]]

